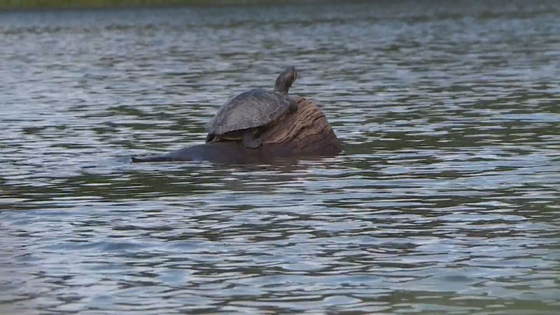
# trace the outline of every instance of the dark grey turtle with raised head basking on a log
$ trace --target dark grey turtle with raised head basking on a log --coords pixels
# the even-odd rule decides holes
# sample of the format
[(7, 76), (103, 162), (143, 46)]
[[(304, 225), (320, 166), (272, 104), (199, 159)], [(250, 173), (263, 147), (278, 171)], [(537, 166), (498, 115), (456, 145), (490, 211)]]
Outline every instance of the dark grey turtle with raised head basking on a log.
[(253, 89), (226, 101), (206, 124), (206, 142), (240, 140), (249, 149), (258, 149), (262, 140), (255, 135), (271, 126), (286, 110), (297, 111), (297, 103), (288, 98), (296, 81), (296, 67), (288, 66), (276, 79), (274, 90)]

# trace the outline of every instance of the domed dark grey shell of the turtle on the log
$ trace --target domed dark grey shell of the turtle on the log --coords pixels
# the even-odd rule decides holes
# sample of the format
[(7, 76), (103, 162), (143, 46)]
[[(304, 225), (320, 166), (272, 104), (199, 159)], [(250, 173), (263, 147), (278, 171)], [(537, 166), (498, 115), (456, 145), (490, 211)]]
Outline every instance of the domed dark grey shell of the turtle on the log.
[(206, 125), (208, 133), (226, 132), (264, 126), (280, 117), (290, 107), (287, 96), (278, 92), (254, 89), (228, 100)]

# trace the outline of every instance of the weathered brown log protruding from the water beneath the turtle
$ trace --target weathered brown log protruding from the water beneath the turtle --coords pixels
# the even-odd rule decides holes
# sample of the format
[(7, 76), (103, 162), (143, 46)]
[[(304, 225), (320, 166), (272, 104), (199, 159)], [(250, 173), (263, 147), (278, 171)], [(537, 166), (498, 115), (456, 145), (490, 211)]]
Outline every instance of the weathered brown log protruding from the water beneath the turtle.
[(208, 160), (217, 163), (258, 163), (276, 158), (335, 155), (340, 141), (321, 109), (309, 99), (296, 97), (298, 110), (286, 113), (260, 135), (263, 145), (248, 149), (241, 141), (204, 143), (164, 155), (133, 156), (134, 163)]

